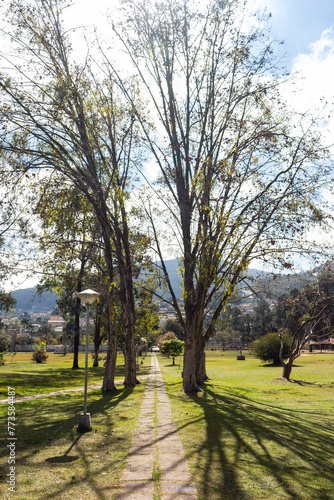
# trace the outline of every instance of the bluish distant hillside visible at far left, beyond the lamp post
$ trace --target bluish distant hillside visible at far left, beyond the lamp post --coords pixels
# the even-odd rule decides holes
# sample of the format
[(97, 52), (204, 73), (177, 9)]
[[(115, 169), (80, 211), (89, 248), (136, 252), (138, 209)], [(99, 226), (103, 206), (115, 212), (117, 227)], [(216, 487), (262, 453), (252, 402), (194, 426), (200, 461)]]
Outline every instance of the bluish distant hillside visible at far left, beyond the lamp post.
[(45, 292), (41, 296), (36, 295), (36, 288), (25, 288), (12, 292), (17, 300), (16, 311), (22, 312), (51, 312), (56, 307), (56, 295), (53, 292)]

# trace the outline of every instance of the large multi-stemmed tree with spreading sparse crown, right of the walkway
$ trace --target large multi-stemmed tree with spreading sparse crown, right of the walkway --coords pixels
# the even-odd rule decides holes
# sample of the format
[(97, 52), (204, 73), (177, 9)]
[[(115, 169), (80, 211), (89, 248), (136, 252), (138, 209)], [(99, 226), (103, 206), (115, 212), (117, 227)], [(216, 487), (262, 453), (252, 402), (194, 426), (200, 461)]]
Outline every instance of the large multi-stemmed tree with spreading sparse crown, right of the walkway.
[[(165, 300), (185, 332), (183, 388), (197, 391), (207, 378), (205, 344), (250, 262), (276, 256), (291, 266), (287, 254), (306, 246), (303, 231), (323, 220), (315, 195), (326, 151), (313, 120), (284, 103), (280, 61), (247, 2), (123, 5), (113, 28), (156, 120), (153, 135), (137, 113), (161, 184), (143, 196), (143, 216)], [(119, 85), (135, 109), (121, 78)], [(184, 314), (164, 263), (168, 234), (180, 259)]]

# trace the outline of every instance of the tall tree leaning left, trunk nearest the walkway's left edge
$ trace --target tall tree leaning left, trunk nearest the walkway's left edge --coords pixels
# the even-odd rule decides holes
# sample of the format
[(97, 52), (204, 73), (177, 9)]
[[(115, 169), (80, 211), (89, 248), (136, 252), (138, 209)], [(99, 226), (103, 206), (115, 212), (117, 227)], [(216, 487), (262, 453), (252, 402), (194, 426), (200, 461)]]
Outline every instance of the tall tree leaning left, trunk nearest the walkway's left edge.
[[(140, 157), (136, 115), (117, 95), (112, 75), (100, 79), (89, 56), (82, 65), (74, 61), (71, 31), (61, 19), (66, 6), (64, 0), (10, 3), (9, 26), (2, 30), (10, 53), (4, 49), (1, 54), (7, 68), (0, 77), (1, 155), (17, 175), (38, 169), (52, 177), (57, 172), (91, 205), (110, 291), (117, 264), (127, 350), (124, 383), (134, 385), (135, 301), (126, 198), (131, 165)], [(137, 92), (131, 82), (128, 89)]]

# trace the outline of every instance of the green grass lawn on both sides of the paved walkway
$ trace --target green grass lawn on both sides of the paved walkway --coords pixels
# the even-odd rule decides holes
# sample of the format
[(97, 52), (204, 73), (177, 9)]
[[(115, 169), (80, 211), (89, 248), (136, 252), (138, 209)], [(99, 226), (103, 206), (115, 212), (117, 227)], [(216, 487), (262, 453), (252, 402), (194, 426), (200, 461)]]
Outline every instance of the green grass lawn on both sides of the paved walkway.
[[(303, 356), (293, 383), (273, 382), (281, 368), (246, 355), (207, 353), (211, 380), (198, 396), (182, 393), (181, 368), (159, 355), (199, 498), (206, 500), (334, 499), (334, 354)], [(90, 361), (91, 364), (91, 361)], [(117, 379), (124, 376), (119, 356)], [(6, 358), (0, 367), (2, 397), (83, 386), (83, 369), (68, 355), (50, 354), (37, 365), (31, 354)], [(83, 355), (80, 366), (84, 365)], [(16, 492), (7, 492), (7, 404), (0, 405), (0, 498), (13, 500), (113, 499), (130, 447), (150, 358), (142, 384), (115, 394), (89, 391), (93, 432), (79, 436), (83, 393), (16, 403)], [(103, 367), (89, 368), (89, 384), (102, 383)], [(186, 497), (185, 497), (186, 498)]]

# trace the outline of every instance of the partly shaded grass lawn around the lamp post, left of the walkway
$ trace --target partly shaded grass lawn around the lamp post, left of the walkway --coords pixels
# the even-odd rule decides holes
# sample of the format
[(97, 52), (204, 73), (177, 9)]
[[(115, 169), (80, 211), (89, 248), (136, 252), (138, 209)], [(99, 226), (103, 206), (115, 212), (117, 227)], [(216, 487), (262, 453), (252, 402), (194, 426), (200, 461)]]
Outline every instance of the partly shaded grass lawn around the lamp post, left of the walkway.
[[(118, 358), (118, 377), (123, 380), (124, 358), (122, 355)], [(83, 360), (80, 364), (83, 365)], [(9, 363), (7, 367), (5, 365), (5, 370), (1, 367), (0, 376), (2, 378), (4, 373), (7, 374), (10, 386), (17, 387), (20, 395), (54, 391), (57, 383), (61, 389), (83, 386), (83, 370), (72, 370), (71, 366), (69, 356), (50, 355), (46, 364), (38, 366), (36, 363), (31, 365), (30, 360), (20, 354), (15, 361), (13, 359), (10, 369)], [(12, 496), (8, 495), (6, 485), (9, 473), (7, 404), (1, 404), (3, 446), (0, 452), (0, 498), (114, 498), (131, 445), (149, 369), (150, 357), (147, 357), (138, 372), (142, 383), (135, 388), (120, 385), (115, 393), (107, 395), (102, 395), (100, 389), (89, 390), (88, 411), (93, 431), (83, 435), (76, 430), (78, 416), (83, 411), (83, 392), (16, 402), (16, 490)], [(11, 373), (13, 379), (10, 379)], [(102, 367), (90, 368), (88, 384), (102, 385), (102, 379)]]

